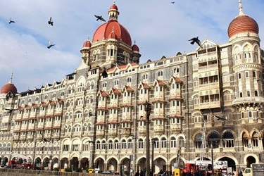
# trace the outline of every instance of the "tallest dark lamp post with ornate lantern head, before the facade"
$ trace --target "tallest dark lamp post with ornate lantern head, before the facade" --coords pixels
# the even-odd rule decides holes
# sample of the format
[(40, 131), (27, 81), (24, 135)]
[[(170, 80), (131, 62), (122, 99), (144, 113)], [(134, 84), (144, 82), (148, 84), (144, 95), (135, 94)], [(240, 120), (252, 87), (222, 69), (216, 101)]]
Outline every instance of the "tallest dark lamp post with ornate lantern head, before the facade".
[(149, 154), (149, 116), (151, 114), (151, 103), (146, 101), (144, 103), (144, 108), (146, 111), (146, 176), (150, 176), (150, 154)]

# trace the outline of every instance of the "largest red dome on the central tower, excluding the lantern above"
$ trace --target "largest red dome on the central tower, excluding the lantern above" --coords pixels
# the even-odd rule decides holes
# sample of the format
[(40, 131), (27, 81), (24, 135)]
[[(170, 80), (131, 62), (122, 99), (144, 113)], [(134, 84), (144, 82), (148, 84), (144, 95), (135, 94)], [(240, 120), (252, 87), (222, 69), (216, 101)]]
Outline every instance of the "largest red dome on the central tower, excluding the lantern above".
[[(115, 5), (115, 4), (113, 4)], [(115, 32), (115, 38), (125, 42), (131, 46), (131, 37), (130, 33), (118, 23), (116, 20), (109, 20), (108, 23), (104, 23), (103, 25), (99, 26), (97, 30), (94, 32), (94, 37), (92, 39), (92, 43), (98, 42), (102, 39), (109, 39), (111, 37), (111, 33)]]

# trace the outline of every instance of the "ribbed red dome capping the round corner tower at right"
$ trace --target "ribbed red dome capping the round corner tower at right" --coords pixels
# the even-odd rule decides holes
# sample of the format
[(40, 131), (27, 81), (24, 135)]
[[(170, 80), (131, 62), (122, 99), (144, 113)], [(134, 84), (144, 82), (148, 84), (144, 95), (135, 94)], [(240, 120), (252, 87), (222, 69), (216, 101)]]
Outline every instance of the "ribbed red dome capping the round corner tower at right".
[(230, 23), (227, 33), (228, 37), (232, 37), (235, 34), (241, 32), (253, 32), (258, 34), (258, 23), (248, 15), (239, 15)]

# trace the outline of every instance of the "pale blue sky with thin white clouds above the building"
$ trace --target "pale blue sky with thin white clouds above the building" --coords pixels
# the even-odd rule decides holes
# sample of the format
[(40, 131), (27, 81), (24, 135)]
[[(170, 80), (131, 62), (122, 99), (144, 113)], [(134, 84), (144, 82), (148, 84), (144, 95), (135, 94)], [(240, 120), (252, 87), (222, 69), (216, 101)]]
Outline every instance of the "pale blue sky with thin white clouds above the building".
[[(115, 1), (118, 22), (139, 46), (141, 63), (195, 51), (196, 45), (188, 41), (192, 37), (228, 43), (227, 27), (239, 15), (239, 0), (172, 1)], [(82, 44), (103, 24), (94, 15), (108, 20), (112, 4), (113, 0), (0, 0), (0, 87), (12, 72), (18, 92), (59, 82), (73, 73), (81, 61)], [(264, 1), (242, 0), (242, 6), (264, 39)], [(47, 23), (50, 16), (54, 26)], [(8, 24), (9, 18), (15, 23)], [(56, 46), (47, 49), (49, 40)]]

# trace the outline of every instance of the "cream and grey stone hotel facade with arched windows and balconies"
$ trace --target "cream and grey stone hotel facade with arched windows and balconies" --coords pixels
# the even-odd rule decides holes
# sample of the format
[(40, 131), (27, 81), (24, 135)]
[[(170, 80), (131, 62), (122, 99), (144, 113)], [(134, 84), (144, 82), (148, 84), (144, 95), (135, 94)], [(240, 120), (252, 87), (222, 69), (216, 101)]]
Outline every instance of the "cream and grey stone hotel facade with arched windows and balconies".
[[(116, 11), (108, 12), (115, 25)], [(233, 170), (264, 157), (257, 32), (241, 31), (222, 45), (206, 39), (191, 53), (139, 64), (138, 47), (113, 27), (108, 38), (84, 42), (81, 53), (79, 67), (61, 82), (1, 92), (2, 164), (23, 155), (47, 169), (144, 170), (146, 101), (155, 172), (172, 170), (179, 153), (180, 165), (213, 153)]]

